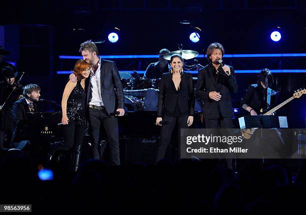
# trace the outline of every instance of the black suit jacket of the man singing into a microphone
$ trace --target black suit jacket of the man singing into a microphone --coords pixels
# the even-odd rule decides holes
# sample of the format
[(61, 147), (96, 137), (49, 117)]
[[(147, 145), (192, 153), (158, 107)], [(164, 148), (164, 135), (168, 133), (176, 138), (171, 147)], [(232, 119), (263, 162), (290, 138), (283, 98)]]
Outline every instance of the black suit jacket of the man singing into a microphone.
[[(230, 117), (233, 115), (230, 93), (236, 93), (238, 85), (234, 69), (231, 66), (229, 67), (231, 72), (229, 76), (221, 66), (218, 67), (219, 84), (215, 80), (213, 73), (216, 70), (212, 63), (209, 63), (198, 71), (195, 95), (203, 100), (204, 118)], [(215, 101), (209, 98), (209, 92), (211, 91), (220, 92), (221, 99)]]

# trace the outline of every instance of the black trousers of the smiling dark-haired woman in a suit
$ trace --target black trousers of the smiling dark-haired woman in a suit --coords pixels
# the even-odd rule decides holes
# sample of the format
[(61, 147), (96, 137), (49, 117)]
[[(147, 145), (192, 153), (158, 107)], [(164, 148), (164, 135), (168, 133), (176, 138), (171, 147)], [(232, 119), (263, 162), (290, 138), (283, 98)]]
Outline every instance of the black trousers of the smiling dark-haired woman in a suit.
[(160, 142), (157, 147), (157, 153), (155, 158), (155, 163), (164, 158), (167, 147), (169, 145), (173, 128), (175, 126), (177, 120), (177, 135), (178, 142), (180, 141), (180, 128), (188, 128), (187, 126), (188, 115), (183, 115), (180, 117), (170, 117), (163, 116), (162, 120), (166, 122), (166, 124), (161, 125), (160, 129)]

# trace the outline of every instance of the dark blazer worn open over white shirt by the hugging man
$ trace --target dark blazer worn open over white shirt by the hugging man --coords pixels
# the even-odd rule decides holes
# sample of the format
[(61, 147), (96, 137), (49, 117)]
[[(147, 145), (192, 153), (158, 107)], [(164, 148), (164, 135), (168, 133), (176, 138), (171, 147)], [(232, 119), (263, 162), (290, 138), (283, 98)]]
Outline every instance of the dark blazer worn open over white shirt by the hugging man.
[[(123, 88), (115, 62), (101, 58), (100, 60), (100, 93), (104, 107), (109, 114), (114, 112), (117, 108), (124, 108)], [(90, 78), (86, 79), (86, 84), (86, 104), (88, 104), (92, 96)]]

